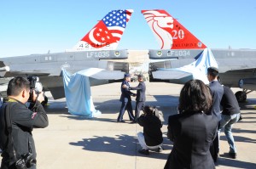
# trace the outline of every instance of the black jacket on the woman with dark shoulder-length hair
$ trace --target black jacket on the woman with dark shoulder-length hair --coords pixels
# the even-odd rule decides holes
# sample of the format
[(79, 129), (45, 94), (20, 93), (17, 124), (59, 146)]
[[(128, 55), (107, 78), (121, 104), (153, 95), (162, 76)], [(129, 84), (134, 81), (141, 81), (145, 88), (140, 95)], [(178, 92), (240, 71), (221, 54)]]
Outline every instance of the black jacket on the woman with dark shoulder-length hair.
[(215, 168), (209, 149), (217, 127), (215, 115), (201, 112), (170, 115), (167, 135), (173, 142), (173, 148), (165, 169)]

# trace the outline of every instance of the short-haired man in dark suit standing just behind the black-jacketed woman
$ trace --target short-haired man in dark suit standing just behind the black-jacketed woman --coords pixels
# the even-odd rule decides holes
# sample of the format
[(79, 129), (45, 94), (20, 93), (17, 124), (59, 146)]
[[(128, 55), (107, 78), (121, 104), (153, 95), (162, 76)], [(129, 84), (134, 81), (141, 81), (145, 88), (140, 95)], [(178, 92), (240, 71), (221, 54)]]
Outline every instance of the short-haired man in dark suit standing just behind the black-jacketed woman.
[[(218, 121), (221, 120), (220, 114), (220, 101), (222, 99), (224, 89), (221, 84), (218, 82), (218, 68), (209, 67), (207, 69), (207, 78), (210, 82), (209, 87), (212, 93), (212, 115), (215, 115), (218, 118)], [(212, 154), (213, 161), (217, 161), (218, 159), (218, 140), (219, 136), (213, 140), (212, 146), (210, 147), (210, 151)]]

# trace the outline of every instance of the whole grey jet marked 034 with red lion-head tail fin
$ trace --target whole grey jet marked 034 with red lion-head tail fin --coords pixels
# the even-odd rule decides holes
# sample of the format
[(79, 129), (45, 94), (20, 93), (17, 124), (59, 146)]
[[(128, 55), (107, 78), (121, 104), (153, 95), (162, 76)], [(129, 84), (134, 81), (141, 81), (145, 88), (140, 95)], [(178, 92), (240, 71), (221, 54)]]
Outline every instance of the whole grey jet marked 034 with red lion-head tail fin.
[[(149, 67), (150, 80), (186, 82), (187, 78), (174, 75), (170, 68), (194, 62), (207, 46), (165, 10), (142, 10), (142, 14), (160, 44), (160, 50), (149, 50), (149, 59), (155, 59)], [(223, 84), (229, 87), (242, 87), (243, 91), (237, 92), (236, 98), (239, 101), (247, 99), (248, 90), (256, 89), (256, 50), (211, 50), (218, 63), (219, 76)]]

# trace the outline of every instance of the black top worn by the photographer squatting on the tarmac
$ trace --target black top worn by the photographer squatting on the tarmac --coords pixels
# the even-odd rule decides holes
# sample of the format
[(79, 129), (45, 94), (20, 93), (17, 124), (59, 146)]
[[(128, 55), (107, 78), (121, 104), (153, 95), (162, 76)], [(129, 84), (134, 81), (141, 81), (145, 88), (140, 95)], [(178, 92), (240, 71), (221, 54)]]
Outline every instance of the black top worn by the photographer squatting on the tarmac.
[(143, 127), (145, 142), (148, 146), (155, 146), (163, 143), (161, 132), (162, 122), (155, 115), (141, 115), (138, 124)]

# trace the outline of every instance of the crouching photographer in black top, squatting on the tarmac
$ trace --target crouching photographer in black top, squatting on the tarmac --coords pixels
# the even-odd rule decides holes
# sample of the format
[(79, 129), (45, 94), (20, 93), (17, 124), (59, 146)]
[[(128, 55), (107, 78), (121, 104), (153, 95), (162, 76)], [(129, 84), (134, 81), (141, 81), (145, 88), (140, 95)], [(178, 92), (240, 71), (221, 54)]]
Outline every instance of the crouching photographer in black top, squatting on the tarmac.
[(163, 144), (163, 134), (161, 132), (163, 115), (153, 106), (146, 105), (143, 115), (140, 115), (137, 122), (143, 127), (143, 132), (137, 133), (137, 139), (143, 149), (138, 152), (149, 155), (149, 149), (161, 152)]

